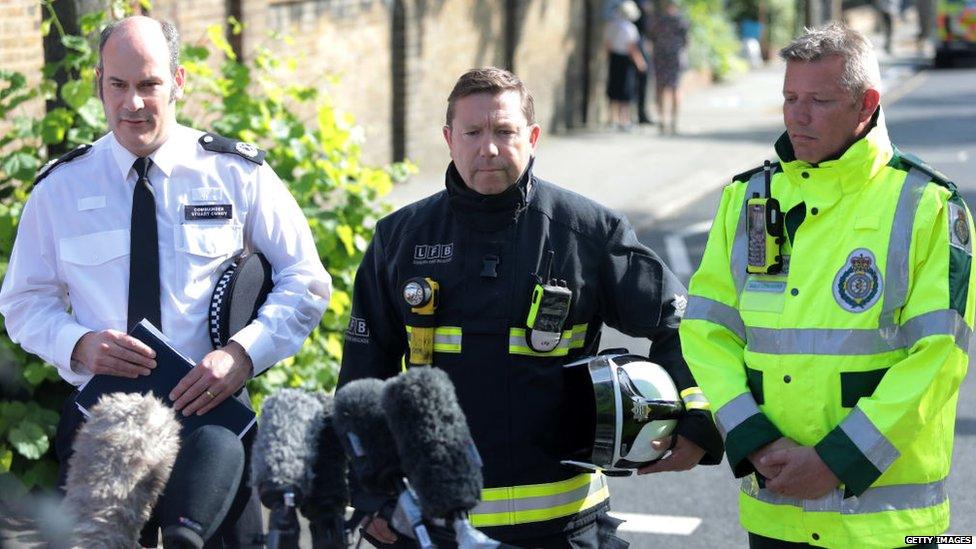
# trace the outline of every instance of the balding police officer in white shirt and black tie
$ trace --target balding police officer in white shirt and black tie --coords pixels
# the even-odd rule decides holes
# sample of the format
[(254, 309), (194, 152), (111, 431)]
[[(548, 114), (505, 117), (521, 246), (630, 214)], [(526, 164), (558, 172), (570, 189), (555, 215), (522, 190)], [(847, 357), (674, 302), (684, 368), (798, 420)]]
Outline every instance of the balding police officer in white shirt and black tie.
[[(174, 408), (190, 415), (207, 413), (298, 351), (322, 317), (331, 280), (305, 217), (263, 163), (263, 151), (177, 124), (175, 101), (185, 82), (178, 52), (175, 28), (147, 17), (103, 32), (96, 78), (112, 131), (39, 176), (0, 290), (0, 313), (11, 339), (75, 386), (93, 374), (149, 374), (152, 350), (125, 332), (143, 317), (155, 320), (197, 362), (170, 395)], [(154, 208), (155, 223), (139, 208)], [(145, 221), (156, 239), (152, 227), (147, 239)], [(214, 285), (251, 251), (271, 263), (274, 287), (257, 319), (214, 349), (207, 328)], [(147, 264), (151, 272), (143, 272)], [(62, 473), (81, 421), (67, 404), (56, 441)]]

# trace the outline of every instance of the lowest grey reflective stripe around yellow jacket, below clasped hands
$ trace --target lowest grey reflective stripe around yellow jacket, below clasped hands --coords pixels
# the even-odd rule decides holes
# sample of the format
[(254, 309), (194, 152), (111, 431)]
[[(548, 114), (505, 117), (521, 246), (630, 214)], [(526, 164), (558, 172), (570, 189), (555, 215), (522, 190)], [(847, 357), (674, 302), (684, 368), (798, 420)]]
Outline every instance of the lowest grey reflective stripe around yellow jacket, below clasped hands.
[(772, 505), (791, 505), (812, 513), (860, 515), (886, 511), (908, 511), (934, 507), (949, 499), (945, 479), (928, 484), (892, 484), (868, 488), (860, 496), (844, 498), (844, 491), (832, 490), (819, 499), (797, 499), (760, 489), (755, 475), (742, 479), (741, 490)]

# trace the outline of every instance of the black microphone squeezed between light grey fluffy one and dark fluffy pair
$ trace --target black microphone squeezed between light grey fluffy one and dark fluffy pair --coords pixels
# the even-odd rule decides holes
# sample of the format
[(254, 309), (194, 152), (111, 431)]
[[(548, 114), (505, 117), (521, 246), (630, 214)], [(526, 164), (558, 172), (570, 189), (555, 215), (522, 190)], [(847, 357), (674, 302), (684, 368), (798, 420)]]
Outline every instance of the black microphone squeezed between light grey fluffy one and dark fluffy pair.
[(322, 404), (322, 429), (319, 431), (312, 484), (301, 512), (308, 519), (313, 549), (339, 549), (348, 545), (346, 505), (349, 486), (346, 483), (346, 454), (339, 443), (334, 424), (335, 401), (332, 396), (317, 393)]

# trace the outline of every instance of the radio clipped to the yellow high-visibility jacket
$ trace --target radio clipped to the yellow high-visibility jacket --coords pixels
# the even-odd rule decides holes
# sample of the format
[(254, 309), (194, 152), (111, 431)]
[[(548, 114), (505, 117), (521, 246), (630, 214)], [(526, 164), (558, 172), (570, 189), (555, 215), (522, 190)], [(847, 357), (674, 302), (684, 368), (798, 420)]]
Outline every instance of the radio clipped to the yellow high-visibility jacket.
[(748, 235), (749, 274), (779, 274), (783, 271), (783, 212), (779, 201), (771, 196), (772, 169), (769, 160), (763, 165), (766, 178), (765, 196), (753, 193), (746, 201), (746, 234)]

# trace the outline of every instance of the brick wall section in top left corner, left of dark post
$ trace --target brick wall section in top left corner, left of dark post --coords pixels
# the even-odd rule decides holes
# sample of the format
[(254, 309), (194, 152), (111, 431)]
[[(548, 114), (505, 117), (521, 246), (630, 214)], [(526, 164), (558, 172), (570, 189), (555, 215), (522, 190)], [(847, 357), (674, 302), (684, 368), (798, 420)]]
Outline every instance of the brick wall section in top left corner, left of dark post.
[[(0, 69), (23, 73), (28, 86), (36, 86), (44, 66), (41, 38), (41, 3), (37, 0), (3, 0), (0, 2)], [(41, 101), (21, 105), (19, 113), (38, 116), (44, 111)], [(0, 132), (6, 131), (0, 120)]]

